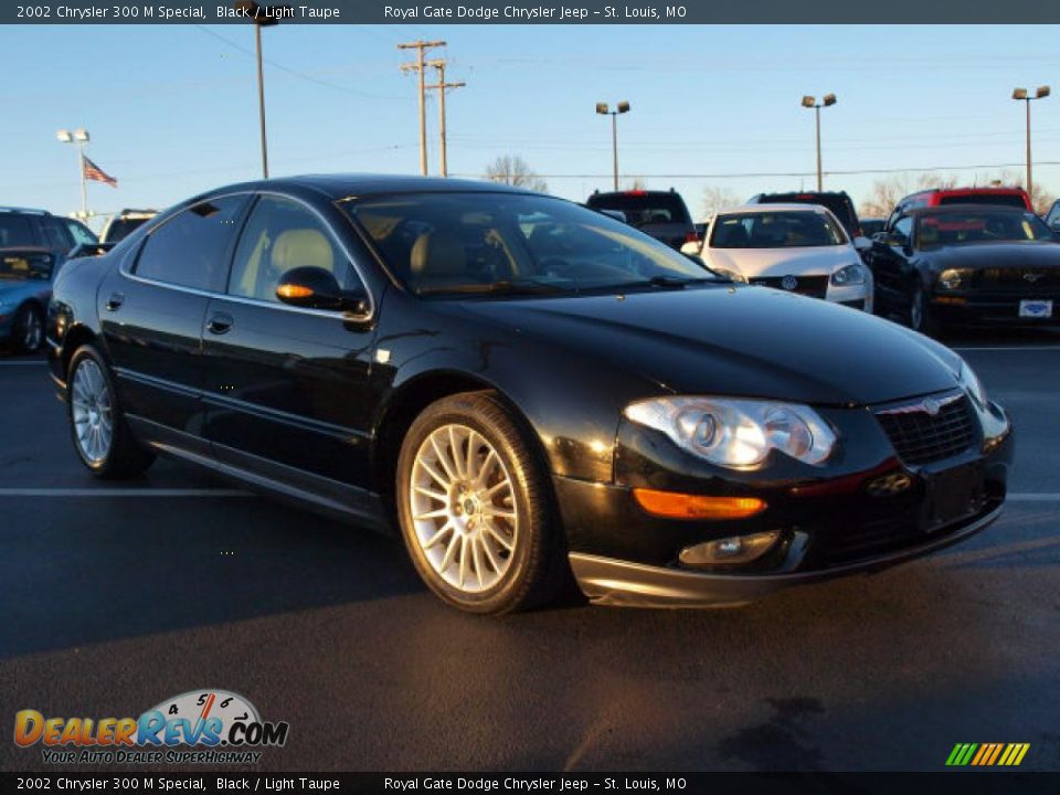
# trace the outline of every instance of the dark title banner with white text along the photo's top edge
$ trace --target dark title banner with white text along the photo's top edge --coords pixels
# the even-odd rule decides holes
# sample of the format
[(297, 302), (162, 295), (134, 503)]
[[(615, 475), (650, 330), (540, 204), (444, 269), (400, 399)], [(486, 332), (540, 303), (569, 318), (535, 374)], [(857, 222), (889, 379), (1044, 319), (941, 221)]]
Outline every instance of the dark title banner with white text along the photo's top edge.
[[(0, 3), (4, 24), (1041, 24), (1060, 7), (1039, 0), (26, 0)], [(900, 28), (895, 28), (900, 35)], [(749, 53), (749, 57), (753, 57)]]

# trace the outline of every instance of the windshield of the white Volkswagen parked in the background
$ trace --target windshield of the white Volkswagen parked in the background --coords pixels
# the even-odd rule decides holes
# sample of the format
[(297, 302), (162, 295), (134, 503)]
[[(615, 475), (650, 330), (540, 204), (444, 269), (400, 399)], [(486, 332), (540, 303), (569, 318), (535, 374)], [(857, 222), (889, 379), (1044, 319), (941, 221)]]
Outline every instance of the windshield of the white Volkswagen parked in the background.
[(710, 232), (711, 248), (806, 248), (846, 242), (839, 224), (813, 210), (727, 213)]

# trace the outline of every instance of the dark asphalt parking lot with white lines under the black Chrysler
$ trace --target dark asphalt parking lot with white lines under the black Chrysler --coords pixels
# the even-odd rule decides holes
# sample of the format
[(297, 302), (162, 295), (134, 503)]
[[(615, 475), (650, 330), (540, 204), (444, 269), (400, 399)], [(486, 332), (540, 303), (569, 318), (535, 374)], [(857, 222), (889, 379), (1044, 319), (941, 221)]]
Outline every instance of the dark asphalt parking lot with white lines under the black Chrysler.
[[(43, 362), (0, 358), (0, 719), (223, 688), (290, 723), (262, 771), (937, 771), (957, 742), (1060, 770), (1060, 333), (950, 342), (1017, 425), (985, 533), (740, 610), (500, 619), (396, 539), (181, 465), (94, 481)], [(0, 770), (44, 766), (0, 740)]]

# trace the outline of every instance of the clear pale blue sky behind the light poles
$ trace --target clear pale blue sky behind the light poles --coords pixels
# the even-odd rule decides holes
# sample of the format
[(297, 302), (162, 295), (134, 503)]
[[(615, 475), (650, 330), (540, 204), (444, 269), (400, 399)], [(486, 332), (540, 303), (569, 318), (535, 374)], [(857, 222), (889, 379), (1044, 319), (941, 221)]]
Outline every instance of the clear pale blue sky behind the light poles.
[[(1060, 193), (1058, 28), (279, 25), (266, 29), (273, 176), (418, 170), (415, 78), (396, 44), (444, 39), (449, 61), (448, 161), (477, 177), (515, 153), (551, 192), (583, 200), (611, 187), (610, 119), (596, 102), (628, 100), (618, 119), (623, 182), (675, 187), (693, 214), (707, 187), (741, 198), (812, 188), (813, 113), (826, 171), (951, 169), (961, 182), (1014, 163), (1022, 174), (1022, 104), (1014, 86), (1050, 84), (1036, 102), (1036, 181)], [(0, 204), (80, 206), (75, 150), (60, 128), (85, 127), (88, 156), (119, 181), (89, 183), (89, 208), (166, 206), (259, 176), (251, 25), (0, 28), (4, 75)], [(431, 169), (437, 108), (428, 103)], [(748, 176), (761, 173), (805, 176)], [(570, 174), (589, 174), (574, 176)], [(690, 174), (681, 178), (678, 174)], [(714, 174), (701, 177), (701, 174)], [(720, 174), (738, 174), (721, 177)], [(856, 201), (888, 174), (826, 174)]]

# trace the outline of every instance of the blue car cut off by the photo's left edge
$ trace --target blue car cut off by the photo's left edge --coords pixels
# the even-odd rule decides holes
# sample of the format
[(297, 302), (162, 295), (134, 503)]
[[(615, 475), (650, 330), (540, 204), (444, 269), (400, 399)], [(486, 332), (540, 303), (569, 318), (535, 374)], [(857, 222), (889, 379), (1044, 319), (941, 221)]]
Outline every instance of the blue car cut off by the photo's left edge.
[(0, 248), (0, 340), (17, 353), (32, 353), (44, 341), (56, 261), (46, 248)]

